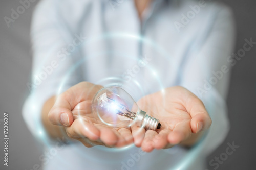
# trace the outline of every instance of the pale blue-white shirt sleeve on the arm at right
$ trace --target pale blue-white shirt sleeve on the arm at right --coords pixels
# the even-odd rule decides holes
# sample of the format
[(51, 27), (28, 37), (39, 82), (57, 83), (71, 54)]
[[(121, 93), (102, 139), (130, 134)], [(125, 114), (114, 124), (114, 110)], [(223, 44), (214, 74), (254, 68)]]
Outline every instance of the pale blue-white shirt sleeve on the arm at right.
[(210, 16), (203, 16), (212, 21), (206, 26), (202, 24), (198, 30), (200, 36), (186, 56), (180, 83), (203, 101), (211, 116), (212, 125), (200, 144), (202, 152), (209, 154), (229, 131), (225, 100), (231, 67), (227, 58), (234, 47), (236, 30), (229, 8), (215, 4), (206, 10), (214, 11)]

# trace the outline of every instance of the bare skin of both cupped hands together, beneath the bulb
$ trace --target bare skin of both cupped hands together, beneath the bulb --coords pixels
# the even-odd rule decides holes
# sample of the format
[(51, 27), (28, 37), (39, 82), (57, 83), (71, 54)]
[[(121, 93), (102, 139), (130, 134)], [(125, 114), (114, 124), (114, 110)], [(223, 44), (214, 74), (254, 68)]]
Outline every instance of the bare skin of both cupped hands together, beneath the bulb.
[[(179, 143), (191, 146), (200, 138), (199, 132), (211, 125), (203, 103), (187, 89), (175, 86), (138, 101), (142, 110), (160, 120), (161, 129), (146, 131), (137, 126), (108, 127), (95, 119), (91, 107), (94, 95), (101, 88), (81, 82), (46, 102), (42, 120), (52, 138), (66, 136), (82, 142), (86, 147), (123, 147), (134, 142), (142, 150), (151, 152)], [(198, 126), (200, 123), (202, 127)]]

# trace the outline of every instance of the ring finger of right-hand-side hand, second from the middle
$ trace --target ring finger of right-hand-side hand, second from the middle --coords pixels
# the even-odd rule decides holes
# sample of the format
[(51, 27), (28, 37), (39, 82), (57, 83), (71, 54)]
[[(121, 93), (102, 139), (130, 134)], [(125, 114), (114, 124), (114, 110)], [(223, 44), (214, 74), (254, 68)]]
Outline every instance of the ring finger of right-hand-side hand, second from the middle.
[(141, 149), (145, 152), (151, 152), (154, 149), (154, 144), (153, 144), (153, 138), (155, 138), (155, 136), (158, 133), (156, 131), (153, 130), (148, 130), (145, 133), (145, 137), (142, 141), (141, 144)]

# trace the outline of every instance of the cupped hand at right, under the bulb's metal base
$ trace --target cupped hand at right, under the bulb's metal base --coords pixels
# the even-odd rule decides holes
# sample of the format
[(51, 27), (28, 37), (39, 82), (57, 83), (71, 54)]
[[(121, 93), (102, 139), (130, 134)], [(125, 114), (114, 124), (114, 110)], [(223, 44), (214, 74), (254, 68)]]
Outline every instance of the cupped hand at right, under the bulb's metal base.
[(162, 124), (156, 131), (132, 127), (135, 144), (146, 152), (186, 142), (193, 134), (198, 134), (211, 125), (211, 118), (202, 101), (180, 86), (144, 96), (138, 101), (138, 105), (147, 114), (158, 118)]

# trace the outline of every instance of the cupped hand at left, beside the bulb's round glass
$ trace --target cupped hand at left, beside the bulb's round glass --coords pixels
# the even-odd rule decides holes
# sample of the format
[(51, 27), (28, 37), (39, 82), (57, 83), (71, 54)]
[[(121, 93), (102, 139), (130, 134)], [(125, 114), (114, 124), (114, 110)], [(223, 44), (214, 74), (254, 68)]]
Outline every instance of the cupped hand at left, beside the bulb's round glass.
[(64, 126), (70, 138), (79, 140), (86, 147), (123, 147), (132, 143), (130, 128), (108, 127), (94, 117), (92, 100), (101, 88), (89, 82), (81, 82), (69, 88), (57, 96), (48, 114), (50, 122)]

